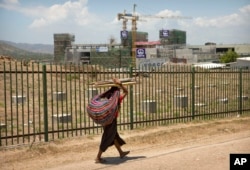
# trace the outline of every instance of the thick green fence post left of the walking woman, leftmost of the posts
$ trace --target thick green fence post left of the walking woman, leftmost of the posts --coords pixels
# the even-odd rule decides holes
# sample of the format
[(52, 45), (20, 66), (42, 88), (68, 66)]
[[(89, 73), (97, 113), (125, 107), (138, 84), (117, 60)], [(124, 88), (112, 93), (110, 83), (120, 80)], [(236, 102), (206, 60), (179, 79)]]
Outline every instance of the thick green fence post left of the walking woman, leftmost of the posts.
[(44, 112), (44, 140), (49, 141), (48, 135), (48, 100), (47, 100), (47, 76), (46, 65), (43, 65), (43, 112)]

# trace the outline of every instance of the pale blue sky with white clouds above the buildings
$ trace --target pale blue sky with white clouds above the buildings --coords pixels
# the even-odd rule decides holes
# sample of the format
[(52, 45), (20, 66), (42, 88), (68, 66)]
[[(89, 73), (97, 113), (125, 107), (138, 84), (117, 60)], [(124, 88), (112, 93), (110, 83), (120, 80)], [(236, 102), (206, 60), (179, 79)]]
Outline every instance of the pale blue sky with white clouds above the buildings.
[(53, 44), (54, 33), (72, 33), (77, 44), (108, 43), (110, 37), (119, 43), (117, 14), (132, 13), (133, 4), (144, 20), (138, 31), (148, 32), (150, 41), (159, 39), (160, 29), (180, 29), (191, 45), (250, 43), (249, 0), (0, 0), (0, 40)]

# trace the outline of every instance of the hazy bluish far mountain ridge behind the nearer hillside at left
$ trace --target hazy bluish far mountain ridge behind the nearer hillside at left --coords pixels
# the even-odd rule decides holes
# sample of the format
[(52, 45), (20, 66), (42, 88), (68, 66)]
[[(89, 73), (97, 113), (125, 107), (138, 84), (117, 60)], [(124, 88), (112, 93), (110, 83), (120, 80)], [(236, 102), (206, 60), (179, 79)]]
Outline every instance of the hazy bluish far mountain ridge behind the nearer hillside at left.
[(53, 54), (54, 53), (54, 45), (15, 43), (15, 42), (11, 42), (11, 41), (3, 41), (3, 40), (0, 40), (0, 42), (4, 42), (6, 44), (17, 47), (19, 49), (23, 49), (23, 50), (31, 51), (31, 52), (35, 52), (35, 53), (45, 53), (45, 54)]

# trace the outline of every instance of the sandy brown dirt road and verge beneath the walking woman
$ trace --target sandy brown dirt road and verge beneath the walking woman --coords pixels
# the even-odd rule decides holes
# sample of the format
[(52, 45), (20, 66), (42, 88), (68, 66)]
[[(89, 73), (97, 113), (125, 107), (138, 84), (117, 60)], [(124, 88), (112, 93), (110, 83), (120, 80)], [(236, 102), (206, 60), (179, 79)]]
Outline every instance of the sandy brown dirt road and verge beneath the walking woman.
[(63, 169), (229, 169), (230, 153), (250, 153), (250, 117), (196, 121), (120, 132), (130, 154), (115, 147), (96, 164), (101, 135), (61, 139), (32, 146), (1, 148), (2, 170)]

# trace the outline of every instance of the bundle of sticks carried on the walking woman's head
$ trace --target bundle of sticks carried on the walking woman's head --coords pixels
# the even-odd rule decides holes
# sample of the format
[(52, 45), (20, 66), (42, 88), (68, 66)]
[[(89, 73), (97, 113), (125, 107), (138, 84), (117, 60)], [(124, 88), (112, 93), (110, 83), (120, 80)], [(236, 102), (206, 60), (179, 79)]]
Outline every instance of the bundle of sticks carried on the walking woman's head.
[[(122, 78), (119, 79), (123, 85), (133, 85), (136, 84), (136, 81), (133, 78)], [(103, 80), (103, 81), (96, 81), (90, 83), (90, 85), (93, 85), (94, 87), (111, 87), (111, 86), (118, 86), (113, 82), (113, 80)]]

